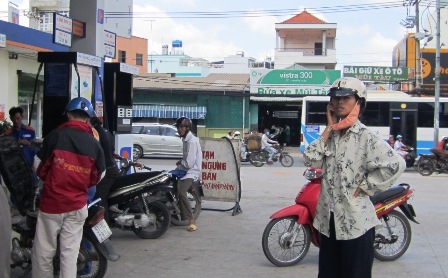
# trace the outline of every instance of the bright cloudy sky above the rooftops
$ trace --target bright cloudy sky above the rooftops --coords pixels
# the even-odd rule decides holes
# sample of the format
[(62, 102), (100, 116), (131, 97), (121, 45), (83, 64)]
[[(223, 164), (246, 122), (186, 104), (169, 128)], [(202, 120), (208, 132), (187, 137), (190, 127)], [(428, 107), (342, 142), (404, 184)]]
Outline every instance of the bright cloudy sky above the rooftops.
[[(7, 10), (7, 2), (0, 0), (0, 11)], [(19, 9), (28, 9), (26, 0), (14, 0), (14, 3)], [(260, 61), (267, 57), (275, 60), (275, 23), (306, 9), (327, 23), (337, 24), (337, 69), (344, 65), (391, 66), (394, 46), (408, 32), (413, 32), (400, 25), (407, 14), (414, 14), (413, 7), (407, 9), (402, 3), (386, 0), (134, 0), (134, 14), (139, 13), (143, 18), (134, 16), (133, 35), (148, 39), (149, 54), (160, 54), (162, 44), (171, 45), (172, 40), (182, 40), (185, 54), (209, 61), (219, 61), (240, 51)], [(380, 5), (397, 7), (379, 8)], [(420, 7), (422, 14), (425, 8)], [(192, 18), (193, 12), (216, 12), (220, 16)], [(248, 13), (257, 16), (235, 17)], [(0, 13), (0, 19), (6, 20), (2, 15)]]

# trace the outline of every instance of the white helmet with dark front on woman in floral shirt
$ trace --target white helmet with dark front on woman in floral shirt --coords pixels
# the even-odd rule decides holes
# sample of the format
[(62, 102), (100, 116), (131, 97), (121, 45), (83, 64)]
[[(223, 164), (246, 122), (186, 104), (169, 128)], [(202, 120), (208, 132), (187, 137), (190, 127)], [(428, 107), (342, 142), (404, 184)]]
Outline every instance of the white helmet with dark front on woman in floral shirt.
[(327, 95), (330, 97), (357, 95), (359, 98), (363, 98), (367, 101), (366, 86), (362, 81), (354, 77), (342, 77), (336, 79), (336, 81), (333, 82), (333, 85), (331, 85)]

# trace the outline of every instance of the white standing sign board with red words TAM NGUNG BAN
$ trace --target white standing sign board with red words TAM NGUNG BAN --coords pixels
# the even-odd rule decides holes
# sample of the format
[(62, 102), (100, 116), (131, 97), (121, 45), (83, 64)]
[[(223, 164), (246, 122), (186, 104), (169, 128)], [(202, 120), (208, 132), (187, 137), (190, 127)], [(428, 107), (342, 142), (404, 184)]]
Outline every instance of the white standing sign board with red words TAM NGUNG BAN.
[(240, 201), (240, 141), (232, 140), (231, 144), (226, 139), (201, 139), (204, 200)]

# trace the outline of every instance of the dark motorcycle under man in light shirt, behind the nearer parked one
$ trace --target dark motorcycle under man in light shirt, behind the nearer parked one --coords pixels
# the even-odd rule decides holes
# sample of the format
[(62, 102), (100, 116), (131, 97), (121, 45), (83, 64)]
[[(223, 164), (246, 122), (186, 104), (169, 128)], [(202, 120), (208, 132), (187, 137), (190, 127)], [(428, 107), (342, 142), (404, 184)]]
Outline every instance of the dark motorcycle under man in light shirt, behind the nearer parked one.
[[(148, 179), (148, 183), (150, 184), (150, 186), (145, 191), (145, 193), (147, 194), (147, 198), (156, 199), (158, 200), (158, 202), (162, 202), (162, 204), (167, 207), (168, 216), (170, 216), (171, 223), (173, 223), (174, 225), (188, 225), (188, 220), (181, 220), (179, 208), (179, 193), (177, 192), (177, 182), (185, 175), (185, 172), (181, 173), (178, 170), (169, 172), (151, 171), (151, 168), (142, 163), (133, 162), (120, 156), (116, 156), (116, 159), (120, 161), (120, 173), (122, 175), (127, 173), (131, 168), (134, 169), (134, 172), (136, 172), (137, 169), (145, 169), (150, 171), (139, 172), (131, 174), (129, 176), (134, 176), (138, 179)], [(188, 191), (187, 196), (192, 205), (193, 217), (196, 220), (201, 213), (201, 196), (203, 196), (202, 187), (200, 186), (199, 182), (193, 183), (193, 186)]]

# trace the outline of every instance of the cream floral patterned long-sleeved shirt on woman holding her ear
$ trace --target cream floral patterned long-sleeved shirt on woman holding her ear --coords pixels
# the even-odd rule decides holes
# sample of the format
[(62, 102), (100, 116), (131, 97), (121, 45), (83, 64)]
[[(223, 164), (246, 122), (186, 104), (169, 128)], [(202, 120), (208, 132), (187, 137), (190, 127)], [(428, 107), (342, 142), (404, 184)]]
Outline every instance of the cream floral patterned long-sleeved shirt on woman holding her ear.
[[(303, 154), (305, 166), (322, 168), (321, 192), (314, 227), (330, 235), (330, 202), (334, 204), (336, 239), (362, 236), (380, 221), (368, 195), (388, 189), (405, 170), (404, 159), (359, 120), (341, 138), (332, 131), (313, 141)], [(366, 194), (353, 197), (360, 187)]]

